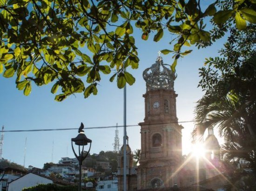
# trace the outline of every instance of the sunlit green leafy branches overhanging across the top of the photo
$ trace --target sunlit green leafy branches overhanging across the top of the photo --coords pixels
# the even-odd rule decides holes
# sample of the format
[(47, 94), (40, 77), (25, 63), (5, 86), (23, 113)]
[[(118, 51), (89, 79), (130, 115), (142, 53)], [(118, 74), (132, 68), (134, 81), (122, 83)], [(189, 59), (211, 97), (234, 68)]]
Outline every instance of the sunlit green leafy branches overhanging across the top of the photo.
[(191, 52), (184, 45), (204, 47), (227, 32), (212, 38), (208, 17), (217, 28), (256, 23), (255, 0), (227, 2), (202, 10), (200, 0), (0, 0), (0, 73), (15, 76), (26, 96), (33, 84), (52, 83), (57, 101), (74, 93), (96, 95), (101, 75), (111, 71), (110, 81), (123, 88), (135, 83), (126, 69), (139, 64), (134, 28), (143, 40), (175, 35), (173, 50), (162, 50), (174, 55), (175, 70), (178, 58)]

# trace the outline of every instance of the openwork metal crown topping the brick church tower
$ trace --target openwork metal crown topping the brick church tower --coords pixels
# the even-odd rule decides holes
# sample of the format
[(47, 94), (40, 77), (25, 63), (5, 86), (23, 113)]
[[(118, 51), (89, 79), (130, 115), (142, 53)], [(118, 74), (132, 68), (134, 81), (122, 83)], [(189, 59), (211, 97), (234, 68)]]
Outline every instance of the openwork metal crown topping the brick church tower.
[[(158, 52), (159, 53), (159, 52)], [(168, 69), (163, 64), (163, 59), (160, 56), (156, 58), (155, 64), (143, 71), (143, 78), (147, 84), (147, 91), (153, 89), (174, 89), (174, 80), (176, 79), (175, 72)]]

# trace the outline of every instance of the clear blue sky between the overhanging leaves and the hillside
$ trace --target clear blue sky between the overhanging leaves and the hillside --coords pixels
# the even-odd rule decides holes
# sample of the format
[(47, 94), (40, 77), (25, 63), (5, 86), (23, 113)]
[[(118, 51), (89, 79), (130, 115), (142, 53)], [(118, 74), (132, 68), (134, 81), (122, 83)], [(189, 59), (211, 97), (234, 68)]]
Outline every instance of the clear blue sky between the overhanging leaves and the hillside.
[[(158, 51), (172, 49), (168, 44), (172, 36), (165, 34), (160, 42), (140, 39), (141, 32), (135, 34), (140, 58), (139, 69), (130, 71), (136, 78), (133, 86), (127, 87), (127, 125), (136, 125), (144, 119), (144, 99), (146, 83), (142, 72), (155, 63)], [(179, 121), (193, 120), (195, 102), (203, 92), (197, 88), (199, 82), (198, 68), (203, 66), (205, 57), (217, 56), (217, 50), (222, 47), (219, 40), (207, 49), (192, 48), (190, 55), (181, 58), (176, 67), (177, 78), (175, 91), (177, 97), (177, 117)], [(189, 47), (188, 47), (189, 49)], [(172, 64), (172, 55), (161, 55), (165, 64)], [(54, 101), (50, 93), (53, 83), (47, 86), (32, 86), (29, 96), (16, 89), (14, 78), (4, 78), (0, 75), (0, 126), (5, 130), (27, 130), (47, 128), (75, 128), (83, 122), (85, 127), (123, 125), (123, 89), (118, 89), (115, 81), (109, 82), (108, 76), (102, 75), (98, 87), (98, 95), (83, 98), (83, 94), (69, 96), (63, 102)], [(183, 154), (189, 153), (190, 133), (194, 124), (182, 123)], [(113, 150), (115, 128), (85, 129), (85, 134), (91, 139), (90, 153)], [(129, 145), (134, 151), (141, 147), (140, 127), (128, 127)], [(42, 168), (43, 164), (52, 161), (57, 163), (61, 157), (74, 157), (71, 149), (71, 138), (77, 135), (77, 130), (17, 132), (4, 134), (3, 158), (23, 165), (25, 140), (27, 137), (25, 167), (32, 165)], [(119, 128), (120, 143), (122, 143), (123, 128)], [(53, 148), (54, 141), (54, 148)], [(54, 150), (54, 152), (52, 152)]]

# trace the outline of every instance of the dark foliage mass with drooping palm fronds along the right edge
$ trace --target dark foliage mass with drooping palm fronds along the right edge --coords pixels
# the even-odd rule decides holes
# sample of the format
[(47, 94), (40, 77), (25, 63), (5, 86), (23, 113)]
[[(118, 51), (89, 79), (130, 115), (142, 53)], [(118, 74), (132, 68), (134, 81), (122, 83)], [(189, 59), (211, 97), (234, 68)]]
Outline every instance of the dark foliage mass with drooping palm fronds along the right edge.
[(250, 173), (243, 171), (245, 180), (256, 176), (256, 25), (234, 33), (220, 51), (224, 58), (211, 59), (208, 69), (200, 69), (199, 86), (206, 91), (195, 107), (201, 131), (195, 130), (192, 136), (197, 138), (196, 133), (203, 134), (208, 127), (217, 128), (224, 138), (223, 160), (240, 171), (234, 179), (241, 179), (239, 159), (249, 161)]

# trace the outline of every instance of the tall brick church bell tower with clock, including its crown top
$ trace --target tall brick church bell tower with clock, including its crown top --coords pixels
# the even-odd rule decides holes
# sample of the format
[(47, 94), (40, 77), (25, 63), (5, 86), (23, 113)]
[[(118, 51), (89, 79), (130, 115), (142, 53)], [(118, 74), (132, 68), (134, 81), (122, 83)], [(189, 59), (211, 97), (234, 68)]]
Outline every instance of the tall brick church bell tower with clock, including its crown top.
[(175, 73), (158, 56), (143, 72), (146, 81), (145, 118), (141, 122), (141, 159), (138, 190), (179, 185), (182, 126), (176, 116)]

